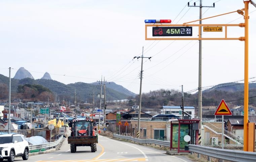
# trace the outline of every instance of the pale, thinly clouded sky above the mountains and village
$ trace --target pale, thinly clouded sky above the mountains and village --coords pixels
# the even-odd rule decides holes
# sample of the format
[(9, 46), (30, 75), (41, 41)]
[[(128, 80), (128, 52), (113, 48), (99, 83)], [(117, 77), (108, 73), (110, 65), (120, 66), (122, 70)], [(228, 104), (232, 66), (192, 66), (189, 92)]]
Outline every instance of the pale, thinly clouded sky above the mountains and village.
[[(195, 93), (198, 88), (198, 40), (145, 40), (145, 19), (183, 24), (199, 19), (199, 0), (8, 0), (0, 1), (0, 74), (11, 78), (20, 67), (35, 79), (48, 72), (64, 84), (105, 78), (139, 94), (158, 89)], [(203, 1), (202, 17), (244, 8), (243, 0)], [(249, 82), (256, 77), (256, 8), (249, 4)], [(205, 19), (202, 24), (239, 24), (237, 12)], [(199, 24), (199, 22), (190, 23)], [(152, 38), (152, 28), (147, 28)], [(224, 27), (223, 27), (224, 30)], [(198, 27), (192, 28), (197, 38)], [(244, 28), (228, 27), (228, 37), (243, 37)], [(224, 37), (203, 32), (202, 37)], [(161, 37), (163, 38), (163, 37)], [(174, 38), (174, 37), (173, 37)], [(175, 37), (178, 38), (178, 37)], [(202, 41), (202, 88), (243, 82), (244, 42)]]

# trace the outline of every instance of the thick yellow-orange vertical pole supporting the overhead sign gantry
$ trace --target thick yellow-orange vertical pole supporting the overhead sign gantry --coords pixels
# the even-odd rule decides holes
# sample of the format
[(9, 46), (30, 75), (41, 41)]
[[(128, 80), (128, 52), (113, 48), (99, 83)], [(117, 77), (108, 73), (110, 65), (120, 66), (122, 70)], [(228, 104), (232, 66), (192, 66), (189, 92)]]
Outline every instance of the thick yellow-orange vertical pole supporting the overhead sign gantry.
[(249, 2), (245, 3), (245, 81), (244, 81), (244, 151), (248, 151), (248, 47), (249, 47)]

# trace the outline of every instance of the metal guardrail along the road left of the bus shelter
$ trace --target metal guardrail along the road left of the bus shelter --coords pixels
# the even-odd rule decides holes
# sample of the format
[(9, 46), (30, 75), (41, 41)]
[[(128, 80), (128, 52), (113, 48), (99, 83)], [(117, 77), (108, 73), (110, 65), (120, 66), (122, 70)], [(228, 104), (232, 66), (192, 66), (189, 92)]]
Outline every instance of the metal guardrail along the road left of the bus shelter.
[(118, 134), (114, 134), (113, 136), (114, 138), (128, 139), (140, 144), (155, 144), (155, 145), (170, 147), (170, 141), (156, 140), (156, 139), (138, 139), (131, 136), (123, 136)]

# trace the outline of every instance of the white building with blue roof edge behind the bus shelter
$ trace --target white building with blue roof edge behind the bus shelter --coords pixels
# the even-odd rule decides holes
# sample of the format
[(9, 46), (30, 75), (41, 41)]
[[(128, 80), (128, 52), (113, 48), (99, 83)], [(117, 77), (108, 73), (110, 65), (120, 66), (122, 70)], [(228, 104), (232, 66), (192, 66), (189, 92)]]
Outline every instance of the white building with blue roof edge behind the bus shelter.
[[(195, 108), (193, 106), (184, 106), (184, 111), (191, 115), (191, 119), (195, 118)], [(172, 114), (175, 116), (182, 116), (180, 106), (162, 106), (161, 114)], [(184, 114), (184, 116), (186, 116)]]

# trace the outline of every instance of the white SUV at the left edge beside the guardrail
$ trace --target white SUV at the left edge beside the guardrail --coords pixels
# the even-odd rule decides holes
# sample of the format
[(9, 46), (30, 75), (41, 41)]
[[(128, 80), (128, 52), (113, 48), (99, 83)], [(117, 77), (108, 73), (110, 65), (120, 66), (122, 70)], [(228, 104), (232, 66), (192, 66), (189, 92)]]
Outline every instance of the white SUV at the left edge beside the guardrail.
[(0, 161), (7, 159), (13, 162), (15, 157), (21, 156), (23, 160), (29, 158), (29, 143), (22, 134), (0, 135)]

